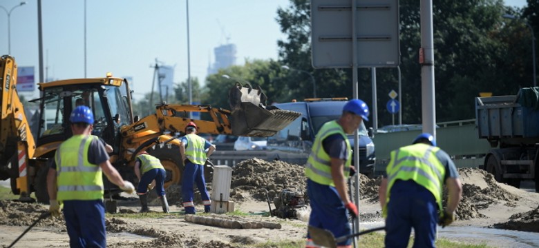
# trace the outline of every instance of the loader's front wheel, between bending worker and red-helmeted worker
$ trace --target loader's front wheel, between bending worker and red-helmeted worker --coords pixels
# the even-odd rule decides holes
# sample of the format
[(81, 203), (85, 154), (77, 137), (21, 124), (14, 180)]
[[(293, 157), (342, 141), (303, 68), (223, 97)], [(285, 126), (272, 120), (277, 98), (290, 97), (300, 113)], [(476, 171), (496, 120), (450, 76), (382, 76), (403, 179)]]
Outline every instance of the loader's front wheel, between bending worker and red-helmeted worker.
[(167, 145), (160, 147), (155, 146), (155, 149), (149, 150), (148, 153), (155, 158), (159, 158), (161, 164), (167, 172), (167, 177), (164, 179), (164, 188), (170, 185), (179, 185), (182, 183), (183, 163), (180, 159), (180, 149), (177, 146)]

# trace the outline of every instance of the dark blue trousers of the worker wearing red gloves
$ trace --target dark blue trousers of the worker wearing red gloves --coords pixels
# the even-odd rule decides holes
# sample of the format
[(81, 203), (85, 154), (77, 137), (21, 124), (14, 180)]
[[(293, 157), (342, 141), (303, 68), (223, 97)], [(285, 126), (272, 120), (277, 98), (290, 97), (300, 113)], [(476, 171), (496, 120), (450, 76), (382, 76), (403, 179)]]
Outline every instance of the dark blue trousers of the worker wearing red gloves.
[[(352, 234), (348, 210), (344, 207), (339, 192), (335, 187), (321, 185), (307, 179), (307, 194), (311, 205), (309, 225), (331, 231), (335, 238)], [(310, 234), (307, 234), (310, 239)], [(352, 239), (339, 242), (337, 245), (351, 245)]]

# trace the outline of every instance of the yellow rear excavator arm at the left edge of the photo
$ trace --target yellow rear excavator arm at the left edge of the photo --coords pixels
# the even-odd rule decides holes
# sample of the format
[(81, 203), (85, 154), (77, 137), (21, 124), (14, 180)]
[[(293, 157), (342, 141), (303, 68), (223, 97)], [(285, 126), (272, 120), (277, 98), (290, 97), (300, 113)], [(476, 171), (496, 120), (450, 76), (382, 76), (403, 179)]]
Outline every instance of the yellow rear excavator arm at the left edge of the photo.
[(17, 94), (17, 63), (12, 56), (0, 58), (0, 84), (0, 179), (11, 178), (13, 192), (28, 196), (27, 165), (35, 153), (35, 140)]

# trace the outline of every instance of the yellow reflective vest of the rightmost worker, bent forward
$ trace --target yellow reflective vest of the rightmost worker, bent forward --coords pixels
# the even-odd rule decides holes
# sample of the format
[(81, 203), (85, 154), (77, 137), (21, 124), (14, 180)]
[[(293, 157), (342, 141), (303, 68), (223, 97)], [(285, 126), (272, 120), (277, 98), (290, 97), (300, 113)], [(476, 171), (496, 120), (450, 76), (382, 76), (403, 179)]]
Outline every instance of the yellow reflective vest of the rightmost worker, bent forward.
[(445, 167), (436, 157), (439, 147), (422, 143), (401, 147), (391, 152), (391, 161), (386, 172), (388, 174), (388, 187), (386, 191), (386, 205), (382, 215), (387, 214), (391, 187), (397, 180), (413, 180), (431, 192), (436, 199), (439, 209), (442, 209), (442, 190)]

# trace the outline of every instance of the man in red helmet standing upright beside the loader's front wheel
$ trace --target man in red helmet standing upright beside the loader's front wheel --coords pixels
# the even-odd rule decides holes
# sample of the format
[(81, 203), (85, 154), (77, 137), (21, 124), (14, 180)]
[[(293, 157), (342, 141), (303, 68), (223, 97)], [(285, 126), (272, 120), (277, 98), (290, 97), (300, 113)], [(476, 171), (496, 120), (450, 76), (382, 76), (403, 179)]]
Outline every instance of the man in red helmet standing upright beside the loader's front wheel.
[(189, 122), (185, 126), (185, 136), (180, 140), (180, 155), (185, 167), (182, 175), (182, 201), (185, 214), (196, 212), (193, 203), (193, 183), (196, 183), (200, 191), (205, 213), (209, 213), (211, 205), (204, 178), (204, 165), (206, 158), (214, 153), (215, 145), (211, 145), (205, 138), (196, 135), (197, 130), (196, 124)]

